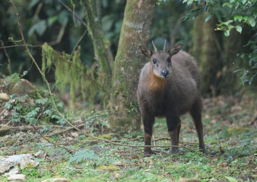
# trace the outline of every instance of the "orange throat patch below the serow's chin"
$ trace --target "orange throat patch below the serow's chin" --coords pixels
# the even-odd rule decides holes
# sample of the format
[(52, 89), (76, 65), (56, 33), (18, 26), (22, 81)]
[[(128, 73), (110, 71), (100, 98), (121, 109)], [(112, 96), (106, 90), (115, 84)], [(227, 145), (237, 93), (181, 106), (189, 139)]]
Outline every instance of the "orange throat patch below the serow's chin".
[(150, 90), (162, 90), (167, 84), (167, 79), (162, 79), (154, 75), (152, 66), (150, 67), (150, 80), (148, 87)]

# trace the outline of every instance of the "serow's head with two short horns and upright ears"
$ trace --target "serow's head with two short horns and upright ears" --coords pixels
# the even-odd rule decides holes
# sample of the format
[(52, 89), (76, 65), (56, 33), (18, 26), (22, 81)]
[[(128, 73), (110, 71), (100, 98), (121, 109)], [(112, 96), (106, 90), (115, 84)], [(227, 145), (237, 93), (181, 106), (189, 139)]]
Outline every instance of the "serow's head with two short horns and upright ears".
[(169, 78), (172, 72), (172, 56), (179, 52), (182, 44), (173, 45), (167, 50), (166, 41), (162, 51), (158, 51), (154, 42), (154, 52), (148, 46), (139, 46), (141, 52), (150, 58), (153, 74), (159, 78)]

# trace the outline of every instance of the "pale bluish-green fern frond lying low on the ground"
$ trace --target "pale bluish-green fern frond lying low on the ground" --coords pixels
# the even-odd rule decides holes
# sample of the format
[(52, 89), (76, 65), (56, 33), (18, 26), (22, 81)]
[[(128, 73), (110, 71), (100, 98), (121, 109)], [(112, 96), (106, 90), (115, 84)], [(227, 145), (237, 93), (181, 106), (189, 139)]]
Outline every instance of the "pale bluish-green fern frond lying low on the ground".
[(83, 160), (96, 160), (98, 158), (99, 157), (95, 154), (93, 150), (83, 149), (71, 155), (69, 157), (69, 163), (75, 162), (76, 164), (79, 164)]

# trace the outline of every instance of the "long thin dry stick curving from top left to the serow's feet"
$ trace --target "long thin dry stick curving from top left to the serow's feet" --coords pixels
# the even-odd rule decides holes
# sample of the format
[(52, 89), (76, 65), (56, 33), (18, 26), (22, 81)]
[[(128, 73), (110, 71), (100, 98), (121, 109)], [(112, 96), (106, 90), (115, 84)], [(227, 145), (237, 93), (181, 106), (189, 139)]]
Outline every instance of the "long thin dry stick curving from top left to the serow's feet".
[[(59, 0), (60, 1), (60, 0)], [(114, 141), (111, 141), (111, 140), (108, 140), (108, 139), (104, 139), (104, 138), (99, 138), (99, 137), (96, 137), (96, 136), (91, 136), (90, 134), (87, 134), (85, 132), (83, 132), (82, 130), (80, 130), (79, 128), (77, 128), (76, 126), (74, 126), (72, 123), (70, 123), (64, 116), (63, 114), (59, 111), (59, 109), (57, 108), (57, 105), (56, 105), (56, 102), (54, 101), (53, 99), (53, 94), (51, 92), (51, 88), (50, 88), (50, 84), (49, 82), (47, 81), (46, 77), (45, 77), (45, 74), (41, 71), (39, 65), (36, 63), (34, 57), (32, 56), (28, 46), (27, 46), (27, 43), (25, 41), (25, 38), (24, 38), (24, 34), (23, 34), (23, 31), (22, 31), (22, 25), (20, 23), (20, 18), (19, 18), (19, 12), (17, 11), (17, 8), (13, 2), (13, 0), (10, 0), (10, 3), (12, 4), (13, 6), (13, 9), (16, 13), (16, 19), (17, 19), (17, 24), (18, 24), (18, 27), (19, 27), (19, 30), (20, 30), (20, 33), (21, 33), (21, 36), (22, 36), (22, 41), (23, 41), (23, 44), (25, 45), (25, 50), (27, 52), (27, 54), (29, 55), (29, 57), (31, 58), (32, 62), (35, 64), (36, 68), (39, 70), (44, 82), (46, 83), (47, 85), (47, 88), (48, 88), (48, 91), (49, 91), (49, 94), (50, 94), (50, 98), (52, 100), (52, 103), (53, 103), (53, 107), (56, 109), (58, 115), (60, 117), (63, 118), (63, 120), (69, 124), (71, 127), (73, 127), (74, 129), (76, 129), (78, 132), (80, 132), (81, 134), (85, 135), (85, 136), (88, 136), (88, 137), (91, 137), (91, 138), (94, 138), (94, 139), (97, 139), (97, 140), (102, 140), (102, 141), (106, 141), (107, 143), (110, 143), (110, 144), (114, 144), (114, 145), (118, 145), (118, 146), (124, 146), (124, 147), (132, 147), (132, 148), (144, 148), (144, 147), (160, 147), (160, 148), (171, 148), (171, 147), (177, 147), (177, 148), (185, 148), (185, 149), (188, 149), (188, 150), (191, 150), (193, 152), (196, 152), (195, 150), (191, 149), (191, 148), (188, 148), (188, 147), (185, 147), (185, 146), (136, 146), (136, 145), (127, 145), (127, 144), (119, 144), (119, 143), (115, 143)], [(206, 157), (208, 157), (207, 155), (205, 154), (202, 154)]]

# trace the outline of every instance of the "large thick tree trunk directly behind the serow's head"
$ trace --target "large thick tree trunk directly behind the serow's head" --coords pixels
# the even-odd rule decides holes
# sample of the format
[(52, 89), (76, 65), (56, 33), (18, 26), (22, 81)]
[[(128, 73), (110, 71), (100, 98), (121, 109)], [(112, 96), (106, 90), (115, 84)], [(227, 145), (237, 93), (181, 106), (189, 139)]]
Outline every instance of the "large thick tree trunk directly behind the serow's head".
[(115, 58), (112, 96), (108, 118), (112, 130), (129, 132), (140, 129), (140, 112), (137, 103), (139, 73), (146, 58), (139, 50), (148, 45), (155, 0), (127, 1)]

